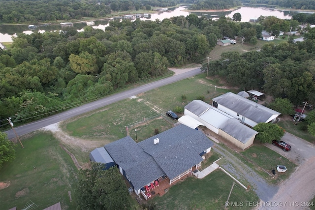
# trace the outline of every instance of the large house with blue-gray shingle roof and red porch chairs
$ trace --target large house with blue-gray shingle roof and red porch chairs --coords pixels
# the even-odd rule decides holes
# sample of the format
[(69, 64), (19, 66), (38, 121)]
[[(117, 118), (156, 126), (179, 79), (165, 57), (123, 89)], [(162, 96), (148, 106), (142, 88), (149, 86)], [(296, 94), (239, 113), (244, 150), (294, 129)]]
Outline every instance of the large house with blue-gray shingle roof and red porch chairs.
[(145, 186), (160, 178), (169, 184), (200, 167), (202, 155), (210, 152), (213, 142), (201, 131), (180, 124), (136, 143), (126, 136), (104, 146), (130, 182), (134, 192), (145, 194)]

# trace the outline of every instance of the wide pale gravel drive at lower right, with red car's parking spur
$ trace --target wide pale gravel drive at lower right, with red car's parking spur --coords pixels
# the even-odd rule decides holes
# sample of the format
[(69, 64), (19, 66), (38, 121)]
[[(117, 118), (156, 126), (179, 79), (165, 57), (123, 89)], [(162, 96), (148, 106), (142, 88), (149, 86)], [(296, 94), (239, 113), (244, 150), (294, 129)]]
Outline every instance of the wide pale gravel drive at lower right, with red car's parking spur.
[[(281, 139), (291, 145), (284, 152), (271, 144), (266, 145), (298, 165), (288, 180), (280, 185), (270, 203), (261, 203), (259, 210), (308, 210), (310, 200), (315, 196), (315, 145), (285, 133)], [(313, 204), (315, 205), (315, 204)]]

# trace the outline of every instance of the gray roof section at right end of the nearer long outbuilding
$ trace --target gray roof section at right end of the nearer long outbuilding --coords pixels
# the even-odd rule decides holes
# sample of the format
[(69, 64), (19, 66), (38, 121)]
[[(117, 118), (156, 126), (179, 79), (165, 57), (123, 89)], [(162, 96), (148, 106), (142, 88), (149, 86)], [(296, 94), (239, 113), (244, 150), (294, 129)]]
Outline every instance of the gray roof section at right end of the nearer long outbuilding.
[(220, 129), (230, 136), (233, 136), (235, 139), (239, 140), (243, 144), (246, 144), (246, 142), (248, 142), (253, 135), (258, 133), (252, 128), (249, 128), (246, 125), (242, 124), (239, 120), (235, 118), (226, 120), (220, 126)]

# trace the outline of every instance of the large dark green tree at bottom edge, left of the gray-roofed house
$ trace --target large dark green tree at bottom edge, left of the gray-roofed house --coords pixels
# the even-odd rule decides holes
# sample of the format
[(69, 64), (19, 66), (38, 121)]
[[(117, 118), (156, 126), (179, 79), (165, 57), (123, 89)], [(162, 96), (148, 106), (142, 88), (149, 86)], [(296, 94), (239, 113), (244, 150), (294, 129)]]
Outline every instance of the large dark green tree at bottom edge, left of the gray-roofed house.
[(104, 170), (92, 162), (91, 169), (80, 171), (77, 187), (79, 210), (128, 210), (130, 202), (126, 183), (117, 167)]

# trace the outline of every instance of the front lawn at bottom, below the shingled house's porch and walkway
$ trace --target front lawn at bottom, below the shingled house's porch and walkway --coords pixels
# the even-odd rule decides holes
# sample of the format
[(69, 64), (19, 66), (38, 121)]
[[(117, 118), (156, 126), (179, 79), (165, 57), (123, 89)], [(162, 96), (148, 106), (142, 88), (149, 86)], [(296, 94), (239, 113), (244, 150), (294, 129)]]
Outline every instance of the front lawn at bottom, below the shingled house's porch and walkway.
[[(169, 188), (162, 197), (156, 196), (148, 203), (158, 210), (220, 210), (224, 209), (233, 180), (217, 169), (203, 179), (189, 177)], [(258, 201), (251, 190), (235, 184), (229, 202)], [(226, 209), (251, 209), (252, 207), (228, 207)]]

